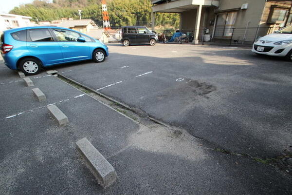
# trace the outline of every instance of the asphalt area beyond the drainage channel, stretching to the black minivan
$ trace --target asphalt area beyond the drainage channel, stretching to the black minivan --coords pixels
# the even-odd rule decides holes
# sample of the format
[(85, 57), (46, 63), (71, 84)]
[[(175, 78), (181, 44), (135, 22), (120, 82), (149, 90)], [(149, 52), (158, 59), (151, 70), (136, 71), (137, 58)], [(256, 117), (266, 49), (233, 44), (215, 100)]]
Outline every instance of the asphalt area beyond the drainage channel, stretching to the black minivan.
[(292, 64), (248, 47), (109, 44), (110, 57), (55, 67), (227, 151), (259, 157), (292, 143)]

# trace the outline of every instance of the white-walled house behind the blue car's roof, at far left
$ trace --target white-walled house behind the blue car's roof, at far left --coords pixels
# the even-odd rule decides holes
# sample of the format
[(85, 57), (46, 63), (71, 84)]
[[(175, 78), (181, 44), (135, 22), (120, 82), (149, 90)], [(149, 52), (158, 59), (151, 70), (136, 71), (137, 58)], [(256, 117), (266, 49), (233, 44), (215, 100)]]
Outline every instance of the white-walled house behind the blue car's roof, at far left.
[(30, 19), (32, 17), (0, 13), (0, 33), (12, 28), (31, 26)]

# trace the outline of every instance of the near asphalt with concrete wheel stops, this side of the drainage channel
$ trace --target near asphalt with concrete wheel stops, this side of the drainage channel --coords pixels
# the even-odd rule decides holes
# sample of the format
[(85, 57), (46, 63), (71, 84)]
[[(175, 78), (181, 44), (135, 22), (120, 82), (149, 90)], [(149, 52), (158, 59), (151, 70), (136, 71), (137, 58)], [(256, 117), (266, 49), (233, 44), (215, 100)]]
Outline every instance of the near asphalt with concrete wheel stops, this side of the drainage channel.
[[(34, 87), (2, 67), (0, 194), (292, 192), (291, 177), (271, 165), (215, 151), (184, 131), (145, 127), (46, 73), (29, 77), (47, 96), (37, 102)], [(68, 126), (57, 125), (49, 104), (69, 118)], [(110, 188), (97, 184), (78, 153), (75, 142), (83, 137), (116, 169), (118, 180)]]

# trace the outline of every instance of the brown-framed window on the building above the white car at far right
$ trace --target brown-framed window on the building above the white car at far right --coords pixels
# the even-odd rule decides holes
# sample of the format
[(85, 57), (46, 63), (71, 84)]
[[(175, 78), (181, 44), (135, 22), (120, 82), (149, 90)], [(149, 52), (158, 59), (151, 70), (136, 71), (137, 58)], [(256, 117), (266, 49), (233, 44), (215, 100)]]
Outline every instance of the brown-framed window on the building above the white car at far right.
[(289, 11), (288, 7), (281, 7), (277, 5), (271, 6), (271, 11), (268, 18), (268, 23), (281, 24), (284, 23), (287, 13)]

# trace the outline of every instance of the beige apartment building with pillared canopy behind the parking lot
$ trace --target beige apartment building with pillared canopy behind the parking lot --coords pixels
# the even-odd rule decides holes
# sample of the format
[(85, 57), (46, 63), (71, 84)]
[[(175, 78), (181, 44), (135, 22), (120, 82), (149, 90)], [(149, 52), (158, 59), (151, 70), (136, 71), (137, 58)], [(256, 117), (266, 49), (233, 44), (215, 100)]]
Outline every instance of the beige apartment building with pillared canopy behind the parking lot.
[(211, 39), (254, 41), (292, 23), (292, 0), (151, 0), (155, 13), (180, 13), (180, 30)]

